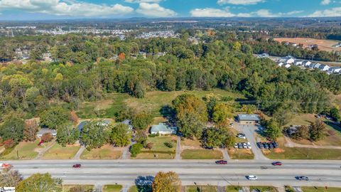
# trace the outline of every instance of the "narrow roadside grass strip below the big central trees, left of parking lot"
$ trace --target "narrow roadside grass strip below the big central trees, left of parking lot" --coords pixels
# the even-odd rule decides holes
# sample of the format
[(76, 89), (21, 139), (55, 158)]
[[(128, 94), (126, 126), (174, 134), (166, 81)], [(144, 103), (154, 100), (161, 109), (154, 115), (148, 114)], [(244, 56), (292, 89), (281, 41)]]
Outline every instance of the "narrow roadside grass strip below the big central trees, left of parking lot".
[(185, 149), (181, 153), (183, 159), (223, 159), (221, 151), (210, 149)]

